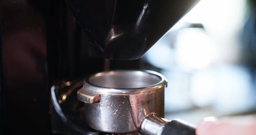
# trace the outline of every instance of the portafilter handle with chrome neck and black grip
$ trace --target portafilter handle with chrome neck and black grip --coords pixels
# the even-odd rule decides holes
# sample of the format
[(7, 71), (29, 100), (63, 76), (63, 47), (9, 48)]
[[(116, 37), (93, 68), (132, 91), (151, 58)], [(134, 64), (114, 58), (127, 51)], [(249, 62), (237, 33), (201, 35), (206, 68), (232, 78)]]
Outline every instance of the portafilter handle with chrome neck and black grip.
[(183, 120), (167, 121), (154, 114), (147, 116), (142, 121), (140, 132), (143, 135), (194, 135), (196, 134), (196, 128)]

